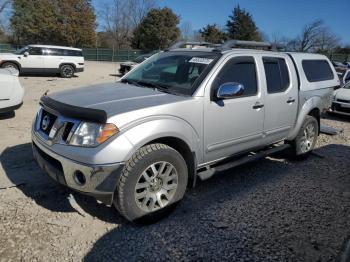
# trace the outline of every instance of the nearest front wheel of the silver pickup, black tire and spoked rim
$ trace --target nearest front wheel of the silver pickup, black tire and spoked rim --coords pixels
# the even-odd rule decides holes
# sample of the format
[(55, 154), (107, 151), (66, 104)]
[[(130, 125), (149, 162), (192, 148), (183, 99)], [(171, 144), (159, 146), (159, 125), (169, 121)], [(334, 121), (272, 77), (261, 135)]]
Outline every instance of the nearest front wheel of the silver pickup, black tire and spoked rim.
[[(161, 167), (159, 166), (162, 165), (162, 163), (165, 163), (165, 166), (162, 171), (160, 171)], [(171, 181), (171, 184), (168, 185), (169, 179), (167, 180), (168, 182), (164, 182), (164, 180), (159, 183), (160, 186), (158, 185), (160, 187), (158, 188), (159, 191), (152, 191), (154, 188), (147, 186), (142, 188), (143, 191), (139, 193), (140, 191), (137, 190), (140, 189), (137, 189), (136, 186), (147, 183), (150, 184), (146, 180), (144, 180), (144, 182), (140, 181), (142, 181), (145, 173), (147, 177), (150, 178), (149, 173), (147, 172), (149, 172), (151, 166), (156, 168), (157, 164), (158, 175), (162, 172), (169, 174), (172, 173), (170, 176), (167, 176), (167, 178), (172, 178), (176, 175), (176, 182)], [(169, 169), (171, 172), (168, 172)], [(164, 174), (158, 175), (156, 175), (154, 179), (158, 177), (159, 180), (162, 180), (160, 177), (165, 176)], [(144, 146), (137, 150), (131, 159), (126, 162), (123, 173), (117, 184), (114, 205), (119, 213), (129, 221), (137, 223), (156, 222), (168, 215), (183, 198), (187, 187), (187, 179), (188, 173), (186, 162), (179, 152), (164, 144), (150, 144)], [(167, 185), (165, 183), (167, 183)], [(151, 204), (154, 202), (154, 199), (150, 198), (148, 194), (157, 194), (157, 192), (165, 190), (163, 187), (171, 185), (176, 186), (176, 189), (169, 190), (172, 198), (167, 199), (164, 198), (165, 195), (161, 195), (160, 200), (157, 199), (155, 201), (156, 204), (153, 204), (154, 208), (158, 209), (146, 211), (145, 209), (151, 209), (149, 206), (152, 206)], [(137, 198), (138, 194), (146, 194), (147, 196), (145, 195), (144, 198)], [(146, 201), (148, 200), (146, 198), (149, 199), (149, 202), (147, 203)], [(168, 203), (166, 203), (164, 207), (161, 207), (163, 205), (163, 200), (164, 202), (168, 201)]]

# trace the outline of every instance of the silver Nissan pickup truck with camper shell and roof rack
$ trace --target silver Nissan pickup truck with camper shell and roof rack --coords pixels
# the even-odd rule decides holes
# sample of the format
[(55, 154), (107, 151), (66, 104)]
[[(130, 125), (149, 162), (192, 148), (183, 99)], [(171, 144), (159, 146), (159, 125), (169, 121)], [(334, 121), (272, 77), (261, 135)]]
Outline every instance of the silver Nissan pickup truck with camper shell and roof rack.
[(158, 219), (187, 186), (280, 150), (305, 157), (337, 74), (318, 54), (173, 48), (118, 83), (40, 100), (34, 157), (56, 181), (114, 205), (130, 221)]

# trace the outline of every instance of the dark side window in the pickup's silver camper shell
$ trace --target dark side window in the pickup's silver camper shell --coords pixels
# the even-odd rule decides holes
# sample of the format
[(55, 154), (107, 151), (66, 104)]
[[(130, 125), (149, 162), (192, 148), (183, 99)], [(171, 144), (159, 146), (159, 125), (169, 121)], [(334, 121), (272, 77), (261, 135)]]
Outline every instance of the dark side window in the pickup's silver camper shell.
[(309, 82), (334, 79), (333, 71), (327, 60), (303, 60), (302, 65)]

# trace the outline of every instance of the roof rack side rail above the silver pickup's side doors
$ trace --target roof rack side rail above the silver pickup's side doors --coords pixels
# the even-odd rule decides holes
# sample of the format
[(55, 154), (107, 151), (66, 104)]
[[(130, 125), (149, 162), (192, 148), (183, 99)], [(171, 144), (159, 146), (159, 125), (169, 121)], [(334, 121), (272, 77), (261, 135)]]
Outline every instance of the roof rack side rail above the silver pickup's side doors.
[(269, 42), (258, 42), (258, 41), (244, 41), (244, 40), (228, 40), (223, 43), (220, 47), (216, 48), (218, 51), (225, 51), (231, 48), (238, 47), (251, 47), (251, 48), (261, 48), (267, 50), (278, 51), (284, 49), (285, 46), (282, 44), (274, 44)]

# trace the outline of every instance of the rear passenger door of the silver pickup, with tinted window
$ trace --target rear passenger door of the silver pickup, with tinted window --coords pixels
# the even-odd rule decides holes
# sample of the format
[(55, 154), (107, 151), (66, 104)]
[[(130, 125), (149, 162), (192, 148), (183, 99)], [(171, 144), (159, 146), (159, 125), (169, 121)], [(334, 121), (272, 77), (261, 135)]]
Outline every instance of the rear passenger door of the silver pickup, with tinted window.
[[(284, 56), (262, 56), (265, 71), (265, 143), (284, 139), (294, 126), (298, 108), (298, 86), (292, 61)], [(264, 81), (265, 80), (265, 81)]]

